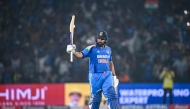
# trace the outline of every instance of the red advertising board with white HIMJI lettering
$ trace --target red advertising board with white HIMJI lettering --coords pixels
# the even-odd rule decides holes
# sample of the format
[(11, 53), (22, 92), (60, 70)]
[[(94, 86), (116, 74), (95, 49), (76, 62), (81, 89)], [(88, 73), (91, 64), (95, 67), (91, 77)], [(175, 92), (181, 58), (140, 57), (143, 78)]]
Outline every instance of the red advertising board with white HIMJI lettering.
[(0, 85), (0, 106), (64, 105), (64, 84)]

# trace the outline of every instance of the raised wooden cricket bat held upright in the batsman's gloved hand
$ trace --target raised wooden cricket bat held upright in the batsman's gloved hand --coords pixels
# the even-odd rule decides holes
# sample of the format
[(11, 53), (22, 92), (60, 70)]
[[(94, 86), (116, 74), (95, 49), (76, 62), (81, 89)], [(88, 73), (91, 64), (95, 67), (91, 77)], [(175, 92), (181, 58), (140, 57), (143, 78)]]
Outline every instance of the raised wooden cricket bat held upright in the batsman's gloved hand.
[[(74, 36), (74, 28), (75, 28), (75, 15), (72, 15), (72, 19), (70, 22), (70, 44), (73, 45), (73, 36)], [(70, 61), (73, 62), (73, 52), (70, 53)]]

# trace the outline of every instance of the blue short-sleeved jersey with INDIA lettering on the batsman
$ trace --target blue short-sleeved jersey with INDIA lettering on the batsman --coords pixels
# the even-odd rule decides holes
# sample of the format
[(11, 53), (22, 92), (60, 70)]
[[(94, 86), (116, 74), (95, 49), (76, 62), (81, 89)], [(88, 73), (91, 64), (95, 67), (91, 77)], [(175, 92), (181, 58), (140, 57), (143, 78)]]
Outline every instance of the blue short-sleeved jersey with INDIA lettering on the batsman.
[(83, 51), (83, 58), (89, 57), (89, 72), (103, 73), (110, 71), (110, 61), (112, 61), (111, 48), (105, 46), (100, 48), (98, 45), (86, 47)]

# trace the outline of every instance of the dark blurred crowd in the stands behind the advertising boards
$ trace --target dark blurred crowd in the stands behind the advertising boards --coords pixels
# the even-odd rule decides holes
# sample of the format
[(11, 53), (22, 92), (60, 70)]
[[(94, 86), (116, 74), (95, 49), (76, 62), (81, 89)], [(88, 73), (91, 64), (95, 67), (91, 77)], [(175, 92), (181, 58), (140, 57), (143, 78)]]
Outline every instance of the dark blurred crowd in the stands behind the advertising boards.
[(66, 53), (74, 14), (77, 51), (108, 32), (120, 82), (160, 82), (165, 66), (176, 82), (190, 82), (190, 34), (183, 22), (188, 0), (0, 1), (0, 83), (88, 82), (88, 59)]

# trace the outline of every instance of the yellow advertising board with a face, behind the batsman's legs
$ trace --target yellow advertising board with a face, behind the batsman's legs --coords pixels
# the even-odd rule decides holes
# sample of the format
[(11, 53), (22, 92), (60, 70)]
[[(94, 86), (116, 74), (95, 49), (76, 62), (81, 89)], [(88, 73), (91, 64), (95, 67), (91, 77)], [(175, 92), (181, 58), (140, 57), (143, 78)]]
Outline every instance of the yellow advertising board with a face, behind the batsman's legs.
[[(90, 85), (88, 83), (66, 83), (65, 84), (65, 105), (88, 105), (90, 99)], [(101, 104), (106, 104), (102, 95)]]

